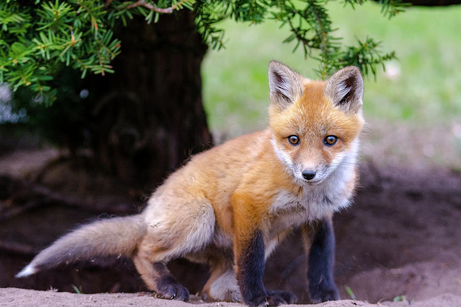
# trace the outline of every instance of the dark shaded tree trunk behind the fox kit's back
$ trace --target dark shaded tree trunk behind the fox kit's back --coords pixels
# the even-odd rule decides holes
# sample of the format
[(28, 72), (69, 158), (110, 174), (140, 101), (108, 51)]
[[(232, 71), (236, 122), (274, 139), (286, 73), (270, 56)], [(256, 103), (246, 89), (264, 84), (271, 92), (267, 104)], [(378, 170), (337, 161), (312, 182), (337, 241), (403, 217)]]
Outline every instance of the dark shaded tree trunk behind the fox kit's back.
[(201, 98), (206, 45), (193, 12), (120, 27), (115, 74), (90, 78), (92, 147), (125, 182), (155, 187), (192, 154), (211, 146)]

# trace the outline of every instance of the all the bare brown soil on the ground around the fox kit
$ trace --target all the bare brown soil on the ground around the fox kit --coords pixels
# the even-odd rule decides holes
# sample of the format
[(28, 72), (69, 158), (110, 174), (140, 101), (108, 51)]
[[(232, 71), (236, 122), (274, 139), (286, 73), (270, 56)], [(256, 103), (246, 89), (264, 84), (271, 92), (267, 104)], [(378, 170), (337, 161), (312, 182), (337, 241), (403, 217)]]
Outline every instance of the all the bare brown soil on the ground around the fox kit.
[[(45, 174), (38, 172), (43, 166), (40, 159), (56, 157), (56, 152), (49, 150), (13, 152), (0, 158), (0, 287), (4, 287), (0, 289), (0, 306), (187, 305), (138, 292), (145, 288), (129, 260), (114, 265), (105, 262), (109, 268), (104, 269), (76, 266), (13, 278), (34, 253), (76, 225), (100, 212), (132, 213), (141, 206), (123, 196), (136, 196), (139, 191), (117, 188), (114, 193), (112, 188), (111, 193), (116, 183), (104, 176), (87, 176), (71, 163), (53, 164)], [(364, 301), (392, 307), (461, 306), (459, 172), (362, 163), (361, 187), (354, 200), (353, 206), (334, 218), (335, 273), (342, 298), (352, 294), (360, 301), (321, 306), (371, 306)], [(308, 303), (304, 262), (301, 239), (295, 233), (268, 260), (266, 287), (293, 291), (300, 303)], [(206, 268), (185, 261), (176, 261), (171, 268), (191, 293), (199, 291), (206, 280)], [(138, 293), (83, 295), (6, 288), (51, 287), (75, 292), (73, 286), (82, 293)], [(395, 297), (403, 302), (389, 302)], [(196, 298), (196, 302), (201, 301)]]

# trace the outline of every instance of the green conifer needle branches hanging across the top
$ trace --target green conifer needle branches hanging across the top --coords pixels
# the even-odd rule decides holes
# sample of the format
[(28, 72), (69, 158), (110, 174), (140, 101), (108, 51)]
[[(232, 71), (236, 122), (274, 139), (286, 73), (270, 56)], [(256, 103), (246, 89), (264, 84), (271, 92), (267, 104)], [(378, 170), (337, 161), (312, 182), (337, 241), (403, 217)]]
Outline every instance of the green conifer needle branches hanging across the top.
[[(306, 56), (319, 60), (318, 73), (326, 78), (344, 65), (357, 65), (362, 72), (375, 73), (375, 67), (395, 57), (381, 54), (379, 43), (371, 38), (358, 46), (342, 46), (333, 34), (325, 8), (326, 0), (6, 0), (0, 3), (0, 83), (13, 91), (26, 86), (37, 94), (53, 97), (49, 80), (61, 65), (81, 72), (105, 75), (114, 72), (111, 61), (121, 52), (122, 42), (114, 28), (130, 23), (134, 15), (146, 23), (161, 23), (162, 14), (193, 10), (197, 31), (213, 48), (223, 47), (224, 31), (219, 21), (263, 23), (279, 21), (291, 34), (284, 42), (301, 47)], [(346, 0), (345, 4), (361, 4)], [(383, 13), (400, 11), (399, 2), (381, 2)], [(46, 100), (45, 100), (46, 101)]]

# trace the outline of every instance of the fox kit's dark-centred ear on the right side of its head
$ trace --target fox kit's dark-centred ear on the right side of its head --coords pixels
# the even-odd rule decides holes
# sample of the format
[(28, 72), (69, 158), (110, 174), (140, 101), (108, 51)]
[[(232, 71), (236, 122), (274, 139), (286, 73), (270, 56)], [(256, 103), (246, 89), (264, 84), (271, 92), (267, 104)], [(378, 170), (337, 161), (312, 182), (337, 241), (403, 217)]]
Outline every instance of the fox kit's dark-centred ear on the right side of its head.
[(362, 108), (363, 78), (359, 68), (348, 66), (328, 79), (325, 96), (345, 113), (357, 113)]

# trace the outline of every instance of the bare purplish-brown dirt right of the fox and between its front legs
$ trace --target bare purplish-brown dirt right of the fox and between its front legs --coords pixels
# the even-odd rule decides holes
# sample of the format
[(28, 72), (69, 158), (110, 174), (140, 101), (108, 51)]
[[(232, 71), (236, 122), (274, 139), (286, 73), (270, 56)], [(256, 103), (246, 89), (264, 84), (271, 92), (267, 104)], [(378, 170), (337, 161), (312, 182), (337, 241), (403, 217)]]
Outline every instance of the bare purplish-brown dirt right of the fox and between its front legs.
[[(354, 200), (334, 217), (341, 297), (378, 302), (461, 295), (461, 174), (363, 163)], [(269, 259), (274, 275), (266, 281), (304, 302), (299, 241), (295, 234)]]

